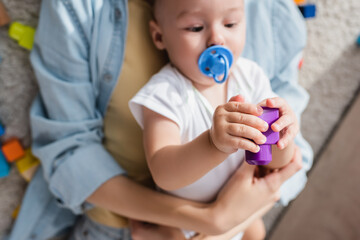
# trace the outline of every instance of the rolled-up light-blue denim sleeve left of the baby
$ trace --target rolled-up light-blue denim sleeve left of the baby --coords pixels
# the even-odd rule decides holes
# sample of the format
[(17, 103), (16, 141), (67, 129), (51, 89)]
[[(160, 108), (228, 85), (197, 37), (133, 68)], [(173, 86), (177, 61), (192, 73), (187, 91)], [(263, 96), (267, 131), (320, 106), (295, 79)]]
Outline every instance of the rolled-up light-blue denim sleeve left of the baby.
[(123, 174), (102, 145), (103, 117), (90, 71), (91, 1), (42, 1), (31, 63), (39, 86), (32, 149), (49, 189), (75, 213), (102, 183)]

